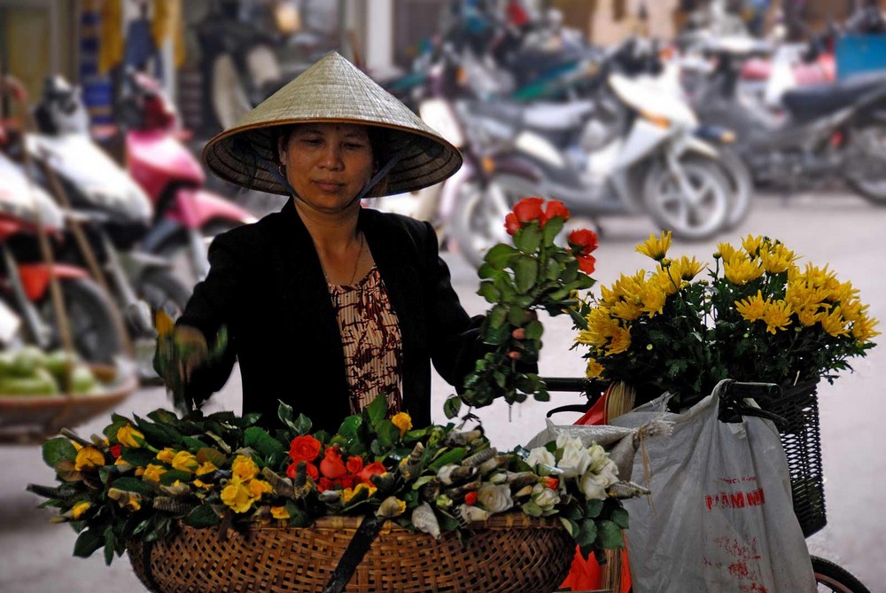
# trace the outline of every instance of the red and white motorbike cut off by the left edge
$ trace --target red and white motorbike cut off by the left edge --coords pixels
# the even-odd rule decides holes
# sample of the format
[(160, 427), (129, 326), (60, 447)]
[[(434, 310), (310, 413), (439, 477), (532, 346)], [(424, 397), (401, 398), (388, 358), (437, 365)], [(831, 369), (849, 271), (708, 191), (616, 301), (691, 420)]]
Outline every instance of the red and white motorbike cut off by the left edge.
[(0, 152), (0, 342), (63, 347), (51, 299), (58, 280), (76, 352), (93, 363), (115, 363), (123, 339), (113, 304), (82, 268), (43, 261), (37, 224), (58, 240), (65, 217), (54, 200), (32, 184), (19, 163)]

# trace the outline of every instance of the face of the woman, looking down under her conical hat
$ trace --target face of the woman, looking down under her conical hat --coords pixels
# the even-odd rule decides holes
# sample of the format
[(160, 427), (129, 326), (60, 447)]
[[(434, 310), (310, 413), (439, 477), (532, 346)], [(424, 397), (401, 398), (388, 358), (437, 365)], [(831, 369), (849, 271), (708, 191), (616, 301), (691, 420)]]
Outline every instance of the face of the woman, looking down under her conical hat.
[(298, 124), (280, 156), (302, 201), (330, 214), (351, 205), (375, 169), (369, 131), (349, 123)]

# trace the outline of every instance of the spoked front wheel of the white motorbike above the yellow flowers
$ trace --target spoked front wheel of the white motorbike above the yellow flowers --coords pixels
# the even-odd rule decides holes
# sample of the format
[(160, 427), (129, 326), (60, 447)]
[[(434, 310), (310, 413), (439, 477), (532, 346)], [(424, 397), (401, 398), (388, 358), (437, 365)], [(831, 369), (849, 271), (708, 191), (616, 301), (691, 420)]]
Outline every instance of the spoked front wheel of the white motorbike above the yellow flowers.
[(680, 180), (657, 162), (643, 182), (643, 203), (652, 220), (674, 238), (703, 241), (724, 229), (730, 212), (729, 181), (716, 160), (691, 155), (680, 160), (686, 181), (695, 193), (689, 197)]

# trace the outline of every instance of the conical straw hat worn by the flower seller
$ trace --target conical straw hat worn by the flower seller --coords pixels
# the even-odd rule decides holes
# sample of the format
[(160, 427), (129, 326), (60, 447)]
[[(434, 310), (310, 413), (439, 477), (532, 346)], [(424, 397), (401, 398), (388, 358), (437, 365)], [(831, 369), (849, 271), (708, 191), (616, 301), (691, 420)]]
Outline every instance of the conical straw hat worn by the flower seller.
[(335, 51), (212, 138), (203, 149), (203, 160), (215, 175), (231, 183), (288, 194), (267, 170), (267, 163), (277, 166), (273, 129), (305, 121), (385, 128), (389, 155), (411, 140), (406, 155), (388, 174), (386, 194), (420, 190), (443, 181), (462, 166), (462, 155), (455, 146)]

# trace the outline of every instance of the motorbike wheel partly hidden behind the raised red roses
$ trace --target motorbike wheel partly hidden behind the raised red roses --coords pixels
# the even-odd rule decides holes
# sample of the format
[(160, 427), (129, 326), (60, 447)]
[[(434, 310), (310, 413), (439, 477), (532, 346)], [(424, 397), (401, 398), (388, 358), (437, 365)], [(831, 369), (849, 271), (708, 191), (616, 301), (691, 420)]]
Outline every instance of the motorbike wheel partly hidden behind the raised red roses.
[(536, 193), (532, 181), (499, 174), (481, 185), (465, 183), (455, 201), (452, 232), (458, 250), (474, 268), (483, 265), (490, 247), (508, 240), (504, 217), (518, 200)]

